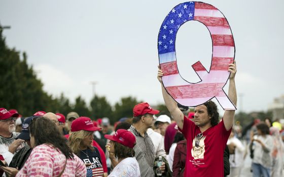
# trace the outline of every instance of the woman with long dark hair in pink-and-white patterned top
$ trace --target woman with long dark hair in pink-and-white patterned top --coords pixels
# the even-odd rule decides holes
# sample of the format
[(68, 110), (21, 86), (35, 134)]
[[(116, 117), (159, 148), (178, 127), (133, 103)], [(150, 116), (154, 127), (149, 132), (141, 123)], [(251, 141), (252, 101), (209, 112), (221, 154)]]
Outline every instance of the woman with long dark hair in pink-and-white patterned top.
[(52, 120), (36, 117), (28, 128), (33, 150), (16, 176), (86, 176), (84, 163), (72, 153)]

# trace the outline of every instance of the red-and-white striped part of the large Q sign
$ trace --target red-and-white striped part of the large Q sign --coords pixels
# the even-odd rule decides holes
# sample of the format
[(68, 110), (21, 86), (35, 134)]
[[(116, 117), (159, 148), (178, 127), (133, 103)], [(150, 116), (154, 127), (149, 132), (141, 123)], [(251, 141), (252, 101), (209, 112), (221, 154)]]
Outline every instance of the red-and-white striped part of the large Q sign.
[(229, 77), (228, 67), (233, 63), (235, 44), (233, 35), (224, 15), (215, 7), (195, 2), (194, 20), (208, 28), (211, 34), (213, 52), (209, 73), (200, 62), (192, 65), (202, 81), (190, 83), (184, 80), (176, 65), (175, 52), (159, 55), (160, 66), (164, 72), (163, 84), (167, 92), (182, 105), (200, 105), (213, 97), (224, 109), (235, 110), (222, 88)]

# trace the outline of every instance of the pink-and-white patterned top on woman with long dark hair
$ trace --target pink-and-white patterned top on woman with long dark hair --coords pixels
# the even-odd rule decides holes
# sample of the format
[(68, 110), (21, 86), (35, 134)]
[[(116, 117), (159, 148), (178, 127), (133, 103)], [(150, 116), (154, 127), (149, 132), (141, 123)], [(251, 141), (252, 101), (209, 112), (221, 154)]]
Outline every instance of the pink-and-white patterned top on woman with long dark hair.
[[(16, 176), (58, 176), (64, 168), (66, 158), (60, 150), (48, 144), (33, 148), (23, 168)], [(63, 176), (86, 176), (84, 162), (76, 155), (67, 159)]]

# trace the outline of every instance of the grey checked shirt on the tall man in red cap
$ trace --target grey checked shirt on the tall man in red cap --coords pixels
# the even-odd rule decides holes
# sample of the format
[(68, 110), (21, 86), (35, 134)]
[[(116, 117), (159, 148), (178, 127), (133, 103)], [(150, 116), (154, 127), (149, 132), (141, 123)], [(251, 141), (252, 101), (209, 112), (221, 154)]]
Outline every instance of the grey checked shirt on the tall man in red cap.
[(131, 125), (128, 129), (136, 138), (136, 145), (134, 146), (135, 158), (138, 161), (141, 177), (154, 177), (154, 161), (155, 150), (151, 138), (145, 132), (144, 137)]

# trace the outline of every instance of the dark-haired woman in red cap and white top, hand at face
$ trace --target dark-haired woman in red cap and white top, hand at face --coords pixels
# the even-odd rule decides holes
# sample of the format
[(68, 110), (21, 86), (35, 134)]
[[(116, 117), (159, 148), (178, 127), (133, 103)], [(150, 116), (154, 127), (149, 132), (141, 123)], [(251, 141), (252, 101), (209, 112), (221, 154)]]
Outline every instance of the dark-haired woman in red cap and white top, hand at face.
[[(125, 129), (118, 129), (115, 135), (105, 135), (104, 137), (111, 140), (110, 144), (108, 144), (108, 148), (114, 167), (108, 177), (140, 177), (139, 164), (134, 157), (135, 151), (133, 149), (136, 144), (136, 139), (132, 132)], [(115, 158), (117, 158), (118, 161), (116, 161)]]

